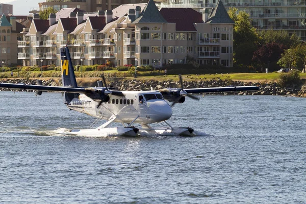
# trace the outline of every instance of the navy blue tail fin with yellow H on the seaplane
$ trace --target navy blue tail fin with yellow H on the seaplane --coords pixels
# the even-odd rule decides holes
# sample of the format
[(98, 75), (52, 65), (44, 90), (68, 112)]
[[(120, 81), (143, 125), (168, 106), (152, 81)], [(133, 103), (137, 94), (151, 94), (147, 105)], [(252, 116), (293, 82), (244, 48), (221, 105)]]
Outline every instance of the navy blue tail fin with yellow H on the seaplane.
[[(77, 80), (73, 71), (73, 66), (70, 58), (68, 47), (61, 47), (61, 65), (62, 65), (62, 83), (66, 87), (78, 87)], [(70, 101), (79, 96), (80, 94), (65, 93), (65, 104), (69, 104)]]

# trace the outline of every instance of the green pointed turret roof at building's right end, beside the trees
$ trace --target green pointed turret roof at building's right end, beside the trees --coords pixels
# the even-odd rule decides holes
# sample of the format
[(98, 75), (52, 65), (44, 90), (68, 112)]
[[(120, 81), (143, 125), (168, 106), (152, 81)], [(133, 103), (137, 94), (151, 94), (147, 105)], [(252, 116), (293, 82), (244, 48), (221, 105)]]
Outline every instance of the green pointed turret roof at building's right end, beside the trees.
[(222, 2), (219, 0), (216, 8), (214, 8), (208, 16), (206, 23), (235, 23), (230, 18)]

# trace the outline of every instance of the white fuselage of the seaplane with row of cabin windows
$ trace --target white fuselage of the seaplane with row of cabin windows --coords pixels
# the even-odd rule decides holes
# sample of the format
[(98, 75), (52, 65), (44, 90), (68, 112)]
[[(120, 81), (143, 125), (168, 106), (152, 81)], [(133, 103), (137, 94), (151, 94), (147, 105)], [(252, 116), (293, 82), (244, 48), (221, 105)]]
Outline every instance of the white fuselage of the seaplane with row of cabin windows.
[(115, 116), (115, 122), (154, 123), (169, 119), (172, 108), (158, 91), (122, 91), (123, 96), (110, 94), (110, 100), (98, 108), (94, 101), (85, 94), (74, 98), (67, 107), (101, 119)]

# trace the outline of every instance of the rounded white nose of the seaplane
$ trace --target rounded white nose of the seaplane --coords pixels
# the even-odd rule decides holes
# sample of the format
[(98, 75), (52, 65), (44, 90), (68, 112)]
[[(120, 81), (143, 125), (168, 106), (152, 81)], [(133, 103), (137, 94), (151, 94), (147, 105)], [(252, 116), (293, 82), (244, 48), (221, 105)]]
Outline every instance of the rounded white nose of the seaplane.
[(168, 120), (172, 116), (172, 108), (165, 100), (150, 103), (149, 108), (155, 113), (154, 119), (158, 121)]

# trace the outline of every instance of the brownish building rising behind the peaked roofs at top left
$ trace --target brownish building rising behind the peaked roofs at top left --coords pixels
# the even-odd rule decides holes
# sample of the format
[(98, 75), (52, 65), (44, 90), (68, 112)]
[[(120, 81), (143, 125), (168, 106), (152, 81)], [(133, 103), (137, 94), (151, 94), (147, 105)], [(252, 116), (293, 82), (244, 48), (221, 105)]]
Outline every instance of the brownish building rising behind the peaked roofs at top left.
[(87, 12), (113, 10), (123, 4), (147, 3), (147, 0), (46, 0), (38, 3), (39, 8), (32, 8), (30, 13), (38, 13), (47, 7), (53, 7), (56, 10), (64, 8), (78, 8)]

